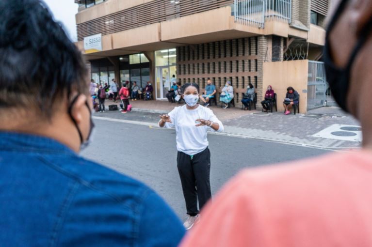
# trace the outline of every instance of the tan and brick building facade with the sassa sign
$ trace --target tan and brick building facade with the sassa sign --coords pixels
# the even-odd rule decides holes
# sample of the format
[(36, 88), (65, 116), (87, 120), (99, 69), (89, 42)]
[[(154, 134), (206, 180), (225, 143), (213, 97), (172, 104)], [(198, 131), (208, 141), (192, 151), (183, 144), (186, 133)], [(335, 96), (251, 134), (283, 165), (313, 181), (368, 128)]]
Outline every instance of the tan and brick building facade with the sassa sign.
[(151, 81), (162, 100), (173, 75), (202, 89), (211, 79), (219, 93), (229, 80), (237, 104), (249, 83), (263, 97), (266, 74), (275, 89), (265, 63), (322, 59), (330, 7), (330, 0), (75, 2), (76, 44), (97, 82)]

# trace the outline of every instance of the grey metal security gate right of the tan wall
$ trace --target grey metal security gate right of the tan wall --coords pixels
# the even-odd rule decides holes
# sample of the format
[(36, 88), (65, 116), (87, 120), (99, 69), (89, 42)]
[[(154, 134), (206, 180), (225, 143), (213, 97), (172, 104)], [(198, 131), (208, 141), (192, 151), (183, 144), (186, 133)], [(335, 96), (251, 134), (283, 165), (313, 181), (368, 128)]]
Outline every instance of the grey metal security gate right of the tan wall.
[(328, 84), (325, 78), (324, 62), (309, 61), (307, 76), (307, 110), (326, 105)]

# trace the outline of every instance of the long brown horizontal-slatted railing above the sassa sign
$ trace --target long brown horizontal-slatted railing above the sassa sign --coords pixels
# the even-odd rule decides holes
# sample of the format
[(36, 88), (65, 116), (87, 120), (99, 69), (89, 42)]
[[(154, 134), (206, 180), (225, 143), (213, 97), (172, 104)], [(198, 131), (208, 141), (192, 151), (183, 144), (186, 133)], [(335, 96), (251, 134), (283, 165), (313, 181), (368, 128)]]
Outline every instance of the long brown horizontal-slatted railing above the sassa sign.
[[(78, 40), (86, 36), (125, 31), (186, 15), (232, 5), (234, 0), (153, 0), (77, 25)], [(216, 16), (218, 18), (218, 16)], [(202, 24), (201, 24), (202, 25)], [(130, 38), (130, 37), (128, 37)]]

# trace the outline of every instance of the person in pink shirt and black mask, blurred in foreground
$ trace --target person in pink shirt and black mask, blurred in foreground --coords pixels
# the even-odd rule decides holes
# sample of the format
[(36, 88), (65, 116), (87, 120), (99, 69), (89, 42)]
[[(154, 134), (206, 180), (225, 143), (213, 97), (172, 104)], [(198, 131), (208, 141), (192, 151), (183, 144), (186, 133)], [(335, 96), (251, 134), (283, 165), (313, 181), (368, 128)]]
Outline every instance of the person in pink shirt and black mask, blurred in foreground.
[(372, 246), (372, 1), (332, 4), (326, 77), (340, 108), (360, 121), (362, 149), (243, 171), (181, 247)]

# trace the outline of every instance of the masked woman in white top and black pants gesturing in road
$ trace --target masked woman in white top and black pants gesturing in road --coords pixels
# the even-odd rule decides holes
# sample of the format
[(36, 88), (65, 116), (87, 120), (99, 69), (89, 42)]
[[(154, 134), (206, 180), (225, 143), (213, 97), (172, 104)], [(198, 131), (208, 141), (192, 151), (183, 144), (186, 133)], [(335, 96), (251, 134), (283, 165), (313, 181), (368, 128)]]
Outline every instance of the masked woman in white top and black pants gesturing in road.
[(174, 108), (169, 114), (161, 115), (160, 127), (176, 128), (177, 167), (186, 201), (188, 217), (185, 228), (191, 229), (199, 217), (200, 210), (211, 198), (210, 192), (210, 150), (207, 132), (224, 131), (224, 126), (209, 108), (197, 104), (199, 86), (187, 83), (182, 87), (186, 105)]

